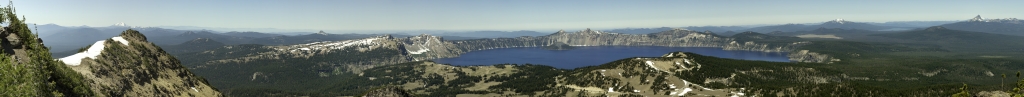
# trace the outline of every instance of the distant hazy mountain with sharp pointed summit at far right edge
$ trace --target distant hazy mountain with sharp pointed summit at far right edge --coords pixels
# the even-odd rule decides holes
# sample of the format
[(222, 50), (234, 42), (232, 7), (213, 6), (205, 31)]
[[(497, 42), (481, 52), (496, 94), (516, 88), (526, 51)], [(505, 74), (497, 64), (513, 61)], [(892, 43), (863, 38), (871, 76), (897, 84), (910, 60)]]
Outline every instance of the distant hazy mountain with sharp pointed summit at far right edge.
[(1024, 19), (1017, 18), (986, 19), (978, 15), (965, 21), (946, 23), (941, 27), (949, 30), (1024, 36)]

